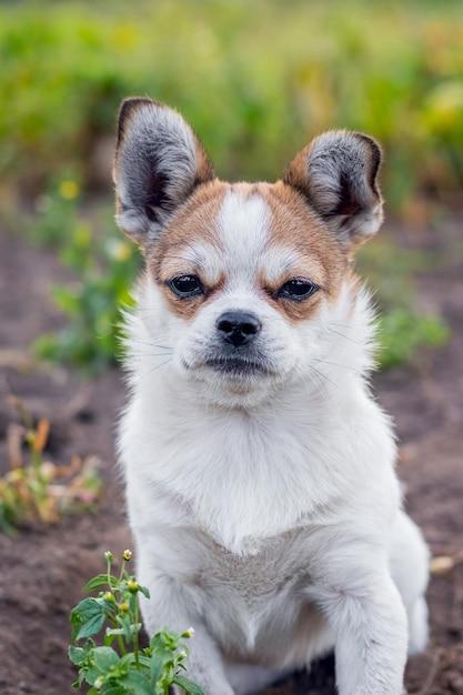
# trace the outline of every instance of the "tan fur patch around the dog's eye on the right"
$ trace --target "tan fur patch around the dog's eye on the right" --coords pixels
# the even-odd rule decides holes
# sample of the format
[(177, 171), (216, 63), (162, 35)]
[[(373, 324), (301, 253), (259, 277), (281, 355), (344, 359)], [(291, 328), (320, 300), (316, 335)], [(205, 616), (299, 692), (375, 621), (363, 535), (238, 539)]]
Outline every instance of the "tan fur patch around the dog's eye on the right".
[(338, 295), (341, 280), (349, 268), (346, 254), (320, 218), (311, 211), (303, 197), (292, 187), (279, 181), (270, 185), (262, 184), (260, 188), (272, 212), (271, 244), (295, 252), (296, 258), (294, 263), (282, 269), (278, 281), (269, 281), (264, 269), (261, 282), (270, 296), (275, 296), (279, 288), (293, 278), (303, 278), (319, 285), (319, 292), (302, 302), (282, 298), (272, 300), (274, 306), (291, 321), (306, 320), (314, 313), (323, 296), (333, 300)]

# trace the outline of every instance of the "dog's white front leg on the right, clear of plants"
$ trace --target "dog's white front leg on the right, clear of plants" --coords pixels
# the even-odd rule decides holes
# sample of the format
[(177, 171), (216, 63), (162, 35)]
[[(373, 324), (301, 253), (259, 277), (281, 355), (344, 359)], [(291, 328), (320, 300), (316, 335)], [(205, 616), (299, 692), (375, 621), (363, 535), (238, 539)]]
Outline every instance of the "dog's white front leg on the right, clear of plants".
[(334, 632), (340, 695), (402, 695), (406, 615), (385, 556), (345, 546), (328, 555), (313, 595)]

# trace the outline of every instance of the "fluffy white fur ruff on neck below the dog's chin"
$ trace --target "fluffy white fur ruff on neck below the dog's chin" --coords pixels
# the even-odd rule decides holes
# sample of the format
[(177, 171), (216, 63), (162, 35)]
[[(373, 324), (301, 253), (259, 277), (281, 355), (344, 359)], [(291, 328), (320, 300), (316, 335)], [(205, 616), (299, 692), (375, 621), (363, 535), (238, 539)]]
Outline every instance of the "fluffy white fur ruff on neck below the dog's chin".
[[(359, 339), (369, 316), (362, 306), (356, 311), (351, 322)], [(384, 449), (389, 425), (365, 386), (368, 341), (334, 343), (342, 350), (316, 372), (251, 407), (212, 405), (168, 365), (150, 371), (137, 362), (122, 457), (135, 447), (147, 484), (181, 500), (192, 523), (235, 553), (314, 522), (334, 502), (339, 510), (364, 474), (365, 455), (383, 455), (375, 450)]]

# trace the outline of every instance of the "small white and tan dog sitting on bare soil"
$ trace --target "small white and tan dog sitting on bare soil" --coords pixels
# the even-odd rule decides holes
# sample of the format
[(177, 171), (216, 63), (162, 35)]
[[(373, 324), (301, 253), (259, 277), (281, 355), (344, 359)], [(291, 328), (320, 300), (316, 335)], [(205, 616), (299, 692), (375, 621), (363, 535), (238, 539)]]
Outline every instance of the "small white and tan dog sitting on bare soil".
[(207, 695), (334, 648), (340, 695), (400, 695), (427, 639), (429, 554), (371, 394), (354, 252), (382, 222), (381, 149), (315, 138), (275, 183), (225, 183), (190, 125), (122, 103), (117, 221), (144, 272), (120, 423), (147, 631), (195, 632)]

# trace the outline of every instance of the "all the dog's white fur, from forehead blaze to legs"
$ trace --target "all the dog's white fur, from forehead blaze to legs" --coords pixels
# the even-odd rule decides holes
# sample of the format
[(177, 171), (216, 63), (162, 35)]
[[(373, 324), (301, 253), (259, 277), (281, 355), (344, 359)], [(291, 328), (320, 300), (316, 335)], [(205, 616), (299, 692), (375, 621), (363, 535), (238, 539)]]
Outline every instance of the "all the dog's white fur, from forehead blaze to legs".
[[(346, 280), (290, 325), (255, 288), (265, 263), (296, 259), (272, 249), (269, 224), (263, 199), (229, 193), (223, 252), (192, 251), (224, 271), (219, 296), (187, 322), (148, 279), (128, 316), (120, 455), (144, 621), (194, 626), (190, 677), (207, 695), (252, 692), (333, 646), (341, 695), (400, 695), (406, 614), (411, 648), (426, 642), (427, 555), (365, 381), (370, 300)], [(235, 309), (261, 320), (274, 367), (239, 385), (201, 366), (217, 318)]]

